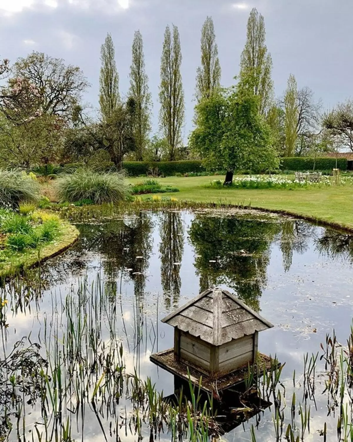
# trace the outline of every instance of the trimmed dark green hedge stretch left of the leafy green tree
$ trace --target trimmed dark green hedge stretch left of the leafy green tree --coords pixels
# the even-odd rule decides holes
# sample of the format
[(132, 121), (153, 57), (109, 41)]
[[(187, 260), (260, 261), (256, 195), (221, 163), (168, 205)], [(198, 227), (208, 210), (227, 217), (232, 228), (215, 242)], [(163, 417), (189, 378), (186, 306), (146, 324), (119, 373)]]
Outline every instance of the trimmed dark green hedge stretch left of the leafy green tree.
[(130, 176), (149, 175), (157, 171), (159, 175), (172, 176), (177, 173), (204, 172), (200, 160), (192, 161), (125, 161), (123, 168)]

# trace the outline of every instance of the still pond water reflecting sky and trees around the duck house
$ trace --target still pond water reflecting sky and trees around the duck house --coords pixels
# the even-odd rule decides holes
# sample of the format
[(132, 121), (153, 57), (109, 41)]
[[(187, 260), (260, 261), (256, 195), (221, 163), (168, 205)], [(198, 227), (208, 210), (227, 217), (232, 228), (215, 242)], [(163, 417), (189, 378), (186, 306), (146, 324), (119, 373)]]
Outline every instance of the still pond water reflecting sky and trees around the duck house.
[[(32, 342), (42, 344), (45, 339), (60, 340), (60, 327), (66, 328), (70, 310), (67, 297), (71, 293), (75, 299), (83, 286), (94, 287), (88, 303), (99, 305), (91, 309), (98, 341), (111, 345), (114, 328), (126, 371), (150, 377), (165, 396), (174, 391), (173, 376), (149, 360), (151, 353), (173, 347), (173, 329), (160, 320), (210, 287), (235, 293), (274, 324), (259, 334), (259, 351), (285, 362), (283, 379), (292, 379), (293, 370), (302, 372), (303, 354), (320, 351), (333, 328), (342, 343), (349, 335), (353, 238), (342, 232), (244, 211), (141, 211), (77, 227), (79, 241), (41, 267), (40, 281), (23, 278), (20, 288), (18, 283), (7, 286), (5, 351), (29, 334)], [(315, 431), (326, 420), (328, 440), (335, 440), (335, 421), (326, 417), (324, 399), (317, 400), (317, 408), (310, 439), (320, 440)], [(111, 431), (112, 422), (115, 427), (128, 412), (129, 401), (120, 400), (115, 412), (105, 413), (99, 422), (87, 406), (84, 416), (74, 415), (72, 438), (104, 440), (105, 433), (107, 440), (116, 440), (119, 433), (120, 440), (137, 440), (126, 428)], [(30, 440), (34, 423), (41, 422), (41, 410), (28, 413), (25, 434)], [(257, 440), (274, 440), (272, 414), (269, 409), (261, 416)], [(252, 418), (223, 438), (251, 440), (249, 428), (255, 423)], [(169, 440), (170, 434), (160, 437)], [(10, 439), (16, 439), (13, 432)]]

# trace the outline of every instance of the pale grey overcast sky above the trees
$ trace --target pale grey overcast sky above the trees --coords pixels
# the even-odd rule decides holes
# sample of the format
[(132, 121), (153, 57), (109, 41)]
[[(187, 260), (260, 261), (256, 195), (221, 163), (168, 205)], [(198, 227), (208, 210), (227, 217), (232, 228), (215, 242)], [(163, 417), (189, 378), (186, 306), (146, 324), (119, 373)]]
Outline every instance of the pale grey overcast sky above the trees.
[(0, 0), (1, 58), (14, 62), (32, 50), (79, 65), (91, 88), (85, 100), (98, 106), (100, 46), (113, 36), (120, 93), (128, 91), (131, 42), (143, 34), (146, 72), (157, 129), (159, 65), (167, 24), (179, 27), (186, 104), (185, 136), (192, 128), (195, 71), (200, 60), (200, 31), (207, 15), (214, 19), (222, 85), (234, 83), (251, 8), (263, 14), (273, 79), (282, 95), (290, 73), (298, 87), (308, 86), (333, 107), (352, 95), (352, 0)]

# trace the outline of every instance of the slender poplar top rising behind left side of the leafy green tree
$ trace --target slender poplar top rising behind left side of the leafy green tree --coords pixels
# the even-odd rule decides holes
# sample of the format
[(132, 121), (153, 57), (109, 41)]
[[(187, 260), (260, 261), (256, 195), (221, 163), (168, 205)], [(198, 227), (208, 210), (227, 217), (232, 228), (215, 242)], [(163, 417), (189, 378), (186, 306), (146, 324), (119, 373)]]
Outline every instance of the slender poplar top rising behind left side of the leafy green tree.
[(207, 17), (201, 31), (201, 67), (196, 71), (196, 99), (210, 98), (219, 88), (221, 65), (218, 58), (218, 46), (212, 17)]

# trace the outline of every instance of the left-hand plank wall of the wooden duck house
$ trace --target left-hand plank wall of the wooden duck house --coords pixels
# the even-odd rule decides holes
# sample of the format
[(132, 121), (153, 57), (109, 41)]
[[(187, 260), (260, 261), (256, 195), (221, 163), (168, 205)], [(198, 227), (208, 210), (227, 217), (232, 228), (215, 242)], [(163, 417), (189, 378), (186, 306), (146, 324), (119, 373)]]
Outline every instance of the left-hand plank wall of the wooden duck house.
[(180, 331), (180, 359), (210, 370), (210, 345), (190, 333)]

